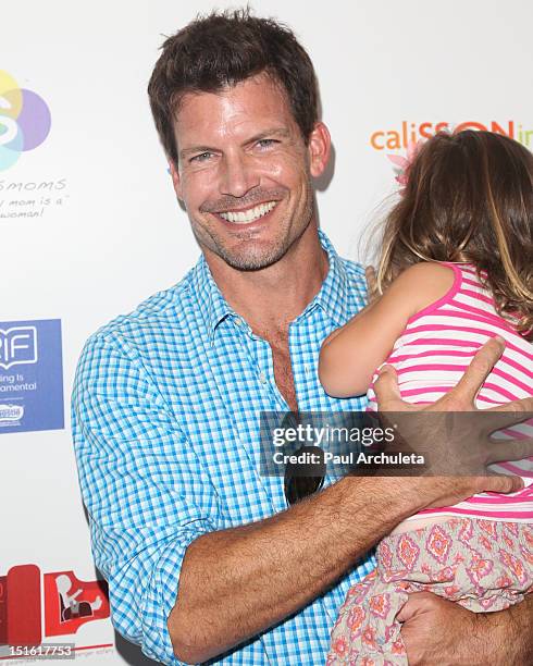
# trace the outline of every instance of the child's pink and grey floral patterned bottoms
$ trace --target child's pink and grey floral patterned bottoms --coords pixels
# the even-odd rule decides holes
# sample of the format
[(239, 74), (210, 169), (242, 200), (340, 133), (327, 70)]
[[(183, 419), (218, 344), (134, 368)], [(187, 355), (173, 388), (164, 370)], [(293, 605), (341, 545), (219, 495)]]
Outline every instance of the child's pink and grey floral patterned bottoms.
[(474, 613), (522, 601), (533, 592), (533, 525), (461, 517), (384, 539), (376, 569), (348, 591), (327, 666), (406, 666), (395, 618), (423, 591)]

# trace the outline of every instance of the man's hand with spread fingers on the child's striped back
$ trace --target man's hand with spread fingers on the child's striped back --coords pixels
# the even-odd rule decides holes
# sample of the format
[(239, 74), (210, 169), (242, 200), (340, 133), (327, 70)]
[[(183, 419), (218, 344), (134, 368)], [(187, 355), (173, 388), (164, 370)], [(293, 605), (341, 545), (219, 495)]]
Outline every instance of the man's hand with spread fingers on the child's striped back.
[(431, 405), (405, 403), (394, 368), (382, 369), (375, 383), (382, 418), (388, 422), (394, 417), (406, 446), (424, 456), (425, 473), (432, 477), (425, 484), (418, 480), (421, 491), (425, 488), (432, 493), (423, 508), (456, 504), (480, 492), (510, 493), (522, 488), (518, 477), (491, 473), (487, 466), (533, 456), (533, 441), (495, 440), (491, 435), (533, 415), (533, 398), (484, 410), (474, 404), (503, 350), (500, 338), (488, 341), (457, 386)]

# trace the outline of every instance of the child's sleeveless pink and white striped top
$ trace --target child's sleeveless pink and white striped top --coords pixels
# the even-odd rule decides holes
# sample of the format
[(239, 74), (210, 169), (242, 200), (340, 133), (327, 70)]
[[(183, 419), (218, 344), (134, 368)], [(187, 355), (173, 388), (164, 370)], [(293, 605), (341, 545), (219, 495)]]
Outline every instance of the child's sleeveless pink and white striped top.
[[(442, 298), (411, 317), (386, 359), (398, 373), (401, 397), (408, 403), (433, 403), (454, 387), (475, 351), (500, 335), (506, 348), (483, 384), (476, 407), (486, 409), (533, 396), (533, 345), (498, 316), (494, 299), (471, 264), (446, 263), (454, 285)], [(375, 377), (374, 377), (375, 380)], [(376, 409), (373, 387), (370, 408)], [(501, 436), (533, 436), (533, 422), (515, 425)], [(468, 442), (464, 443), (468, 445)], [(533, 458), (491, 466), (498, 472), (521, 476), (525, 488), (517, 493), (482, 493), (455, 506), (426, 509), (409, 518), (462, 515), (504, 521), (533, 521)]]

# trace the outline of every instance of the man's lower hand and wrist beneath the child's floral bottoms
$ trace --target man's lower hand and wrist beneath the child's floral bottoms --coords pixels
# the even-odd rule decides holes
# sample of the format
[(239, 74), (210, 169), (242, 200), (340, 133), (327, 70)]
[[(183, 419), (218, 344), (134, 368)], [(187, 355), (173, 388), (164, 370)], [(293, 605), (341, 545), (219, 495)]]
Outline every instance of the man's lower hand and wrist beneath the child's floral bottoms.
[(431, 592), (410, 594), (397, 615), (409, 666), (526, 666), (532, 608), (528, 599), (508, 610), (472, 613)]

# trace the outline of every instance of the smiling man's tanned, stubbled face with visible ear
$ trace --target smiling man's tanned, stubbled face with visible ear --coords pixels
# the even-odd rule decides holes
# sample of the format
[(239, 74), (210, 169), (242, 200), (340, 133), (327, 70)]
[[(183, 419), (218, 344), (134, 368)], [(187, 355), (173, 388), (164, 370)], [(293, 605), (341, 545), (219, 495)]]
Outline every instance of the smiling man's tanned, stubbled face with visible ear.
[(312, 219), (311, 176), (329, 157), (324, 125), (306, 146), (285, 92), (261, 74), (218, 94), (187, 94), (174, 134), (174, 187), (206, 255), (238, 270), (278, 261)]

